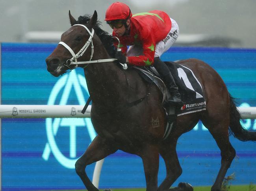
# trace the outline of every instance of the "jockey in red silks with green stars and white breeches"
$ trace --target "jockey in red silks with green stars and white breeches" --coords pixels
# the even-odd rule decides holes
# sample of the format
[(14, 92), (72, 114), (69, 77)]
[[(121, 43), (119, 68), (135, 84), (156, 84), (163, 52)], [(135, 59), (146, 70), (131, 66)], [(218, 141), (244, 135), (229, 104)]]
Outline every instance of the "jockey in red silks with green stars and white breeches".
[[(113, 36), (120, 40), (122, 51), (117, 51), (115, 58), (121, 63), (137, 66), (153, 65), (172, 94), (171, 100), (167, 102), (177, 107), (183, 106), (173, 76), (167, 65), (160, 60), (160, 56), (178, 38), (179, 27), (176, 21), (158, 10), (132, 15), (128, 5), (121, 2), (115, 2), (108, 7), (105, 20), (113, 29)], [(114, 43), (115, 46), (117, 44)], [(130, 45), (129, 49), (132, 49), (133, 45), (142, 46), (143, 54), (126, 56), (127, 45)]]

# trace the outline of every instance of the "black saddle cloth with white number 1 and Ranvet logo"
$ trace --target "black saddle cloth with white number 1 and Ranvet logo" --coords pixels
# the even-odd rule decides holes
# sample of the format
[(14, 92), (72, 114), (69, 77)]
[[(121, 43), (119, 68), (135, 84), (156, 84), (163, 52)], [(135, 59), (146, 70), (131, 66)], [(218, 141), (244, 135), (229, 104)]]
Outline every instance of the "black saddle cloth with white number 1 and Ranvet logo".
[[(165, 64), (169, 67), (174, 81), (178, 86), (182, 100), (185, 103), (183, 107), (176, 109), (176, 115), (180, 116), (206, 110), (206, 101), (204, 98), (202, 86), (194, 75), (193, 71), (188, 67), (177, 64), (175, 62), (165, 62)], [(144, 67), (144, 69), (141, 67), (135, 68), (143, 73), (141, 76), (143, 76), (145, 80), (153, 81), (158, 86), (163, 94), (163, 103), (165, 100), (171, 97), (171, 93), (165, 87), (163, 81), (160, 79), (159, 74), (157, 73), (156, 69), (154, 69), (154, 67)], [(170, 114), (168, 111), (167, 115)]]

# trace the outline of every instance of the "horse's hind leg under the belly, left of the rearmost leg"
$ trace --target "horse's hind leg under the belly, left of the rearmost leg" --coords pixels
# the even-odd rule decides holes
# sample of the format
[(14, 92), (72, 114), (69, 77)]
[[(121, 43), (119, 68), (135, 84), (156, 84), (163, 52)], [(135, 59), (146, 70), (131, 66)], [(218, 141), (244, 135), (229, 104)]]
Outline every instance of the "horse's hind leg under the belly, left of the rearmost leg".
[(171, 143), (163, 143), (160, 146), (160, 155), (163, 157), (166, 167), (166, 177), (158, 187), (158, 191), (167, 190), (182, 174), (182, 168), (176, 153), (177, 140), (172, 140)]

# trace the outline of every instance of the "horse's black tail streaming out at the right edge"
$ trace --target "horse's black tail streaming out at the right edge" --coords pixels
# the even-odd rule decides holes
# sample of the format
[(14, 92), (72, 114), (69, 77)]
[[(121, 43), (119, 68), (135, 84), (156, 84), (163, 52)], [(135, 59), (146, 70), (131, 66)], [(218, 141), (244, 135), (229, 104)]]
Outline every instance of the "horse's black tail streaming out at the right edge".
[(234, 103), (234, 98), (230, 96), (230, 124), (229, 130), (230, 134), (233, 134), (234, 137), (241, 141), (256, 141), (256, 131), (247, 131), (243, 126), (240, 124), (241, 115), (237, 110), (236, 104)]

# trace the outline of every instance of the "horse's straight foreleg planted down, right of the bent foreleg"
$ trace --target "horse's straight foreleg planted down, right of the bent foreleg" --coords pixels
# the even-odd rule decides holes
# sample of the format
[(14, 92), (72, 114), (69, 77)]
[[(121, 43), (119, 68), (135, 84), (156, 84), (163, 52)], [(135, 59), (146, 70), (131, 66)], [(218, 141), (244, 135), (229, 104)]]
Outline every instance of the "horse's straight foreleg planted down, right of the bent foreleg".
[(143, 161), (146, 178), (146, 191), (156, 191), (158, 184), (159, 151), (156, 145), (147, 145), (139, 155)]

